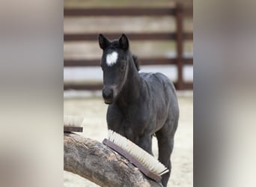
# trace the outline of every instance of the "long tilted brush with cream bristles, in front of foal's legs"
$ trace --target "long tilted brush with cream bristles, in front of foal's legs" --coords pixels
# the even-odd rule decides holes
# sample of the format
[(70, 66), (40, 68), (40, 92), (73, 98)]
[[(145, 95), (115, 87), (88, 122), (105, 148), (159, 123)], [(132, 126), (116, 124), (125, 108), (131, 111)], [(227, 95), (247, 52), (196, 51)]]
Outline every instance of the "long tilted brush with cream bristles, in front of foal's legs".
[(161, 181), (162, 174), (168, 173), (168, 168), (165, 165), (162, 165), (155, 157), (117, 132), (109, 130), (109, 139), (105, 138), (103, 144), (120, 153), (143, 174), (150, 177), (150, 179), (156, 180), (156, 182)]

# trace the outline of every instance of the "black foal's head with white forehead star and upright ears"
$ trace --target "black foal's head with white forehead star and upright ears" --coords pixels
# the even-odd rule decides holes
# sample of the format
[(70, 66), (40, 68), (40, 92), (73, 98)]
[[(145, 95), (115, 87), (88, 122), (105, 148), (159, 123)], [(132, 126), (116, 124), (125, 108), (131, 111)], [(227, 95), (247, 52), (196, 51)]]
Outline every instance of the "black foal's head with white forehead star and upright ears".
[(99, 44), (103, 49), (100, 61), (103, 70), (103, 99), (106, 104), (112, 104), (127, 81), (129, 40), (125, 34), (113, 41), (100, 34)]

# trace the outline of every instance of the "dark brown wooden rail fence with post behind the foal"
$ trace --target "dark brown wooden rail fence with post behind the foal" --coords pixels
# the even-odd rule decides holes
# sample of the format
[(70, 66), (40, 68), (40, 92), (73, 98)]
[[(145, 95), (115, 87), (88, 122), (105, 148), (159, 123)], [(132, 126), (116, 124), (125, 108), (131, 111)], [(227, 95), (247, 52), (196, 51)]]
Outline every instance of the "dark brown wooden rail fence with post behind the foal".
[[(140, 58), (141, 65), (159, 65), (159, 64), (175, 64), (177, 65), (177, 82), (174, 82), (177, 90), (193, 89), (192, 82), (183, 81), (183, 66), (192, 65), (193, 58), (183, 57), (183, 42), (185, 40), (193, 40), (192, 32), (183, 31), (184, 16), (192, 16), (192, 8), (184, 9), (182, 5), (177, 4), (176, 7), (118, 7), (118, 8), (72, 8), (64, 9), (64, 16), (174, 16), (176, 22), (176, 31), (174, 32), (153, 32), (153, 33), (126, 33), (130, 40), (174, 40), (176, 41), (176, 58)], [(106, 33), (104, 33), (106, 34)], [(121, 33), (109, 33), (106, 37), (118, 38)], [(89, 34), (64, 34), (64, 42), (73, 41), (91, 41), (97, 40), (97, 33)], [(87, 67), (99, 66), (100, 59), (64, 59), (64, 67)], [(100, 68), (100, 67), (99, 67)], [(76, 85), (65, 84), (64, 90), (100, 90), (102, 84), (94, 85)]]

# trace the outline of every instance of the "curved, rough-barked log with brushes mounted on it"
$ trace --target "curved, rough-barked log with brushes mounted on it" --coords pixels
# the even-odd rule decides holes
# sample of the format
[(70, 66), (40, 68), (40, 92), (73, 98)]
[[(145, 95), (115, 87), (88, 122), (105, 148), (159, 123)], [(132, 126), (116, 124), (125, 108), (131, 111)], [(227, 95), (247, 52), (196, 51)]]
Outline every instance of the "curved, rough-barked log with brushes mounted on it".
[(106, 145), (69, 132), (64, 132), (64, 170), (99, 186), (162, 186)]

